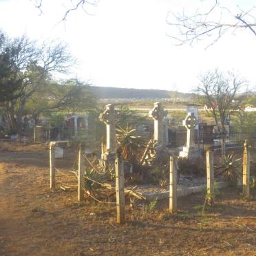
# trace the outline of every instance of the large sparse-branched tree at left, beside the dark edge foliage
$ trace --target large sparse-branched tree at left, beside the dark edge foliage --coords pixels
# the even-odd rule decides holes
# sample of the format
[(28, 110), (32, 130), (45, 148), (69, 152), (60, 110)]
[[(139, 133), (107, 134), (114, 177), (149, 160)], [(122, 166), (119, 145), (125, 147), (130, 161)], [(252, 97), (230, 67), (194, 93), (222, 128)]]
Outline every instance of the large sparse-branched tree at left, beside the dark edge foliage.
[[(8, 40), (6, 49), (10, 49), (9, 59), (15, 67), (7, 75), (8, 81), (17, 79), (19, 86), (3, 103), (3, 115), (10, 131), (19, 132), (28, 101), (50, 83), (54, 72), (67, 72), (73, 60), (65, 44), (50, 42), (37, 46), (27, 36)], [(10, 70), (8, 65), (6, 69)]]

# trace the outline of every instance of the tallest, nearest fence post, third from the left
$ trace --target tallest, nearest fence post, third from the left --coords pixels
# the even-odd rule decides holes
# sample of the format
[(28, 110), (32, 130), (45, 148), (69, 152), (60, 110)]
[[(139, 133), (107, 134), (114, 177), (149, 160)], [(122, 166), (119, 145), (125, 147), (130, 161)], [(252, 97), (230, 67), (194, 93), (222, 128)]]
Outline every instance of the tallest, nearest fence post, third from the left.
[(125, 177), (124, 162), (120, 156), (116, 156), (116, 221), (118, 224), (125, 223)]

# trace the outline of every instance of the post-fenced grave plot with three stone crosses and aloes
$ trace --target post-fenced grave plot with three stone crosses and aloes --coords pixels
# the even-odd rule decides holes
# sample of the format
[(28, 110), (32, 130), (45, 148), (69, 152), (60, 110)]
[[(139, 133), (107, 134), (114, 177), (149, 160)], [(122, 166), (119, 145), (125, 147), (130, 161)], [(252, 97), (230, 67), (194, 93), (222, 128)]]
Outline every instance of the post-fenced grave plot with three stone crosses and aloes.
[(55, 164), (58, 142), (50, 143), (51, 189), (56, 189), (58, 183), (63, 190), (77, 189), (78, 201), (91, 198), (99, 203), (116, 204), (118, 223), (125, 222), (125, 204), (136, 204), (136, 200), (169, 198), (169, 210), (173, 212), (178, 208), (177, 198), (181, 196), (205, 191), (206, 201), (212, 205), (216, 189), (237, 186), (239, 182), (243, 185), (244, 197), (250, 196), (247, 142), (240, 158), (237, 158), (239, 153), (220, 157), (211, 148), (200, 151), (194, 141), (198, 120), (189, 113), (183, 122), (187, 129), (186, 147), (173, 152), (164, 145), (163, 119), (167, 113), (160, 103), (155, 103), (149, 111), (154, 134), (145, 144), (135, 129), (128, 126), (116, 129), (114, 110), (114, 105), (109, 104), (100, 115), (106, 125), (106, 146), (102, 147), (101, 155), (81, 143), (68, 174)]

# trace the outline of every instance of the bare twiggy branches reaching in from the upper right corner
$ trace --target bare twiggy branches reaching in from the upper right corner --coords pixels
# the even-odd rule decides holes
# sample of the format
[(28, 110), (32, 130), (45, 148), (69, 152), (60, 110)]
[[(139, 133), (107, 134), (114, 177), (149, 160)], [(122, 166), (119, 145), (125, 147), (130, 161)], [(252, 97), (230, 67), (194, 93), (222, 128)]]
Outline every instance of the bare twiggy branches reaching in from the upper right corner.
[(193, 14), (184, 10), (181, 13), (169, 13), (167, 23), (178, 28), (177, 35), (169, 36), (176, 39), (178, 45), (210, 40), (208, 46), (217, 42), (224, 34), (234, 34), (237, 30), (248, 30), (256, 36), (256, 6), (248, 10), (236, 6), (237, 10), (231, 11), (231, 8), (222, 6), (220, 2), (214, 0), (208, 10), (198, 9)]

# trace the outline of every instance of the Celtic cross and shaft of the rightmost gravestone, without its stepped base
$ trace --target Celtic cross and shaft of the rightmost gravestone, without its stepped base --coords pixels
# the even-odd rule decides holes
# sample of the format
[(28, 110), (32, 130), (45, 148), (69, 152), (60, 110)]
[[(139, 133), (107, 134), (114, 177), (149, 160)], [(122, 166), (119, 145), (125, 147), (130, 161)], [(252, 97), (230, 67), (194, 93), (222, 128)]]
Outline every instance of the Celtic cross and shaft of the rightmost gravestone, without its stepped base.
[(186, 147), (195, 147), (195, 126), (198, 124), (198, 120), (195, 118), (193, 113), (188, 113), (183, 125), (186, 127)]

